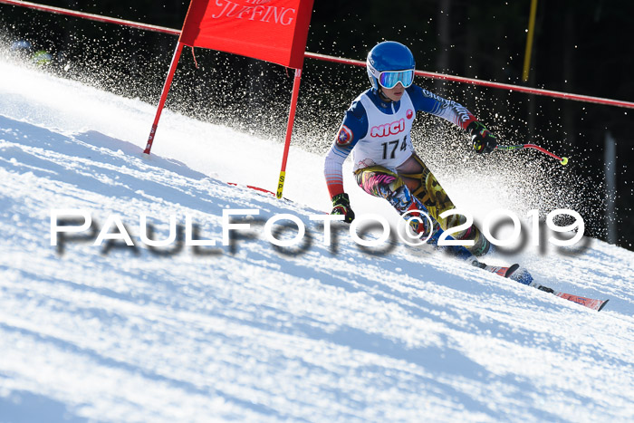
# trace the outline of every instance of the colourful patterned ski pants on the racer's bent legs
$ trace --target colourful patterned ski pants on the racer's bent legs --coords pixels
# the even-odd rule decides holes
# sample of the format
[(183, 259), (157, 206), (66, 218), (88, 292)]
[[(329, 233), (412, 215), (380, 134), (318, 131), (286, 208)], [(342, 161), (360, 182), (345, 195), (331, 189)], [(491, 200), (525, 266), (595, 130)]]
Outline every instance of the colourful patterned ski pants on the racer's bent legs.
[[(456, 207), (427, 166), (420, 159), (416, 159), (423, 168), (423, 171), (418, 174), (398, 174), (382, 166), (371, 166), (360, 168), (354, 173), (357, 184), (371, 196), (388, 200), (400, 215), (412, 208), (427, 210), (428, 215), (435, 222), (434, 226), (440, 226), (442, 230), (464, 223), (465, 217), (460, 215), (440, 218), (443, 212)], [(403, 178), (417, 179), (420, 181), (420, 186), (412, 192)], [(424, 207), (420, 207), (421, 205)], [(460, 240), (474, 240), (475, 245), (467, 247), (473, 255), (485, 255), (491, 246), (476, 226), (454, 233), (453, 237)]]

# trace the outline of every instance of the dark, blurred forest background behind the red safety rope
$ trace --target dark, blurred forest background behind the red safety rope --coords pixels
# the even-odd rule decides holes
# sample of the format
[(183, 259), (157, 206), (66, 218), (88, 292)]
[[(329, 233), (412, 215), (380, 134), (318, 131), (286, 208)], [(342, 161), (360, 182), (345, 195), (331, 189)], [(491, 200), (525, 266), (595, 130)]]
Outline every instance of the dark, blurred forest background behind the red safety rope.
[[(180, 28), (188, 6), (178, 0), (41, 3), (171, 28)], [(530, 4), (530, 0), (316, 0), (307, 50), (364, 60), (375, 43), (396, 40), (408, 44), (420, 70), (634, 101), (634, 2), (540, 1), (530, 80), (522, 82)], [(0, 16), (5, 42), (26, 39), (34, 49), (52, 53), (56, 72), (121, 95), (158, 101), (176, 37), (8, 5), (0, 5)], [(196, 58), (198, 69), (189, 50), (184, 51), (168, 107), (283, 138), (292, 72), (203, 49), (196, 49)], [(324, 152), (342, 111), (368, 86), (366, 73), (307, 60), (303, 75), (297, 132), (304, 141), (298, 142)], [(618, 154), (618, 243), (632, 249), (634, 178), (628, 166), (634, 157), (634, 111), (457, 83), (423, 79), (417, 83), (466, 105), (503, 142), (535, 142), (571, 157), (566, 171), (576, 172), (584, 181), (579, 195), (595, 203), (591, 216), (584, 219), (588, 232), (599, 237), (605, 237), (603, 151), (610, 132)]]

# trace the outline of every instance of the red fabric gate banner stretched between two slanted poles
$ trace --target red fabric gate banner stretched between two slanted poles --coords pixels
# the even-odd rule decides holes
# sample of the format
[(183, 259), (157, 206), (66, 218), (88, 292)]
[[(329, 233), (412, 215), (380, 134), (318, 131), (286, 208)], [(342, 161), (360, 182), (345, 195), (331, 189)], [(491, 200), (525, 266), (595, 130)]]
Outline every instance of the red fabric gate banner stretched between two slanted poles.
[(313, 0), (192, 0), (180, 42), (301, 69)]

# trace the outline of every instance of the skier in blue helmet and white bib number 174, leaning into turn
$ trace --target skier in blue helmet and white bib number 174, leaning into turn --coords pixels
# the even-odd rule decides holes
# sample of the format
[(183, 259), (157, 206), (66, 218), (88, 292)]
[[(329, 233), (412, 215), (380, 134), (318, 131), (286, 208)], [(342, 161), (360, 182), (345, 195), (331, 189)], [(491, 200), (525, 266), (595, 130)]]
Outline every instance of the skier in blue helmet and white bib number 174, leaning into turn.
[[(443, 230), (462, 221), (457, 215), (439, 216), (455, 206), (414, 151), (410, 130), (416, 112), (431, 113), (466, 130), (476, 153), (493, 151), (497, 140), (465, 107), (412, 84), (416, 64), (407, 46), (393, 41), (377, 44), (368, 53), (367, 68), (372, 87), (352, 101), (325, 159), (331, 214), (345, 216), (348, 223), (354, 219), (341, 171), (352, 152), (357, 184), (371, 196), (388, 200), (417, 234), (431, 234), (427, 242), (435, 244)], [(433, 226), (416, 210), (427, 213)], [(473, 240), (475, 244), (467, 246), (473, 255), (485, 255), (491, 248), (476, 226), (454, 237)]]

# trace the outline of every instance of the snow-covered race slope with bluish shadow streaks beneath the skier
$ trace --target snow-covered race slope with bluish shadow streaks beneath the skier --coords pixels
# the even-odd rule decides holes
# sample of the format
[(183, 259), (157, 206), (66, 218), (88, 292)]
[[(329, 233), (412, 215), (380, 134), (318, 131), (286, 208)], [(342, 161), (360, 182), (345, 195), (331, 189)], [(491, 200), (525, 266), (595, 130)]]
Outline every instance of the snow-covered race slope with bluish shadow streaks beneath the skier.
[[(592, 312), (399, 242), (379, 251), (309, 220), (322, 159), (0, 64), (0, 421), (631, 421), (634, 254), (600, 241), (517, 257)], [(238, 159), (239, 158), (239, 159)], [(241, 186), (233, 187), (226, 181)], [(357, 210), (389, 208), (354, 194)], [(136, 247), (51, 245), (51, 210), (120, 216)], [(255, 209), (222, 245), (226, 209)], [(289, 213), (304, 242), (276, 247)], [(185, 216), (216, 246), (156, 239)], [(116, 229), (111, 229), (116, 233)], [(293, 226), (283, 236), (293, 236)]]

